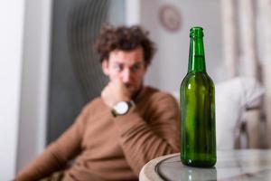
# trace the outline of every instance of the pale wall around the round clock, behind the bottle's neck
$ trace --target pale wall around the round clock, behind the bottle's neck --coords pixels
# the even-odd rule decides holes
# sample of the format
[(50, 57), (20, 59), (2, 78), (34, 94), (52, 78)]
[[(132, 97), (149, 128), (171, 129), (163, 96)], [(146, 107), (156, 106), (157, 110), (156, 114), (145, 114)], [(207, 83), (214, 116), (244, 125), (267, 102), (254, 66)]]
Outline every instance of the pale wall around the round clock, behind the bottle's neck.
[[(158, 19), (162, 5), (174, 5), (182, 16), (182, 27), (177, 32), (164, 29)], [(215, 0), (147, 0), (141, 1), (140, 24), (151, 32), (158, 52), (146, 77), (146, 83), (162, 90), (179, 90), (187, 72), (189, 31), (199, 25), (204, 29), (207, 71), (213, 81), (226, 79), (222, 61), (220, 1)], [(152, 11), (150, 11), (150, 9)]]

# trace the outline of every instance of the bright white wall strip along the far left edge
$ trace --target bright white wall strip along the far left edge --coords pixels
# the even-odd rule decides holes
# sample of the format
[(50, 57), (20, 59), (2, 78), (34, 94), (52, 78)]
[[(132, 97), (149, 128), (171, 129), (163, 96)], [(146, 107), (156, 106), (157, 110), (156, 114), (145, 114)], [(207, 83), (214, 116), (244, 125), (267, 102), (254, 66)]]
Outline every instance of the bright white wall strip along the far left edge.
[(0, 180), (15, 173), (23, 52), (23, 0), (0, 5)]

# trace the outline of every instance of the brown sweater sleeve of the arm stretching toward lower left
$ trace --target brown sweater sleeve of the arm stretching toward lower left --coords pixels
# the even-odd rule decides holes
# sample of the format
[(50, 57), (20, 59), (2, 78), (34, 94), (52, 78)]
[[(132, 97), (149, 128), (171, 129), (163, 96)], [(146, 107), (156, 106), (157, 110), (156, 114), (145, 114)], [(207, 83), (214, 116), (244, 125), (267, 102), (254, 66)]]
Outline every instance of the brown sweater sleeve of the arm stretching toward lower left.
[(68, 161), (79, 154), (84, 132), (84, 122), (88, 117), (85, 108), (60, 138), (52, 142), (43, 153), (24, 167), (16, 176), (16, 181), (38, 180), (64, 167)]

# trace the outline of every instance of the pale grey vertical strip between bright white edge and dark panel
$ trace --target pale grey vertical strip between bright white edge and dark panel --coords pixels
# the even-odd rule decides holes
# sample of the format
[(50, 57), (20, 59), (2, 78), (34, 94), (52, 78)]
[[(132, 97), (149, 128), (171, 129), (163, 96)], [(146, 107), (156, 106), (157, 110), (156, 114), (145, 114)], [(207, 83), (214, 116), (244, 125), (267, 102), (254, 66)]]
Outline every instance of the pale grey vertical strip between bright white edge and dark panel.
[(25, 0), (17, 170), (45, 147), (51, 1)]

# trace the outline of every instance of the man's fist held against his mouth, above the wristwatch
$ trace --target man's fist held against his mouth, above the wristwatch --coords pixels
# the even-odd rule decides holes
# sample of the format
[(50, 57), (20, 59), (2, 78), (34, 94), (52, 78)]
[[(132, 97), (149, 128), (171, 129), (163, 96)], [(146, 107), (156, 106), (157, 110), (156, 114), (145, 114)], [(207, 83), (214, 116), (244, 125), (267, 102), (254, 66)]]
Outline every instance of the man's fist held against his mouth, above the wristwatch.
[(131, 92), (126, 85), (117, 79), (110, 81), (101, 92), (101, 98), (105, 101), (109, 108), (113, 108), (119, 101), (128, 101), (131, 99)]

